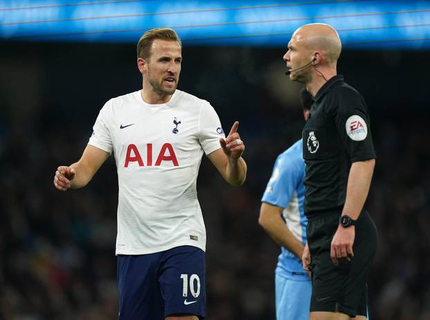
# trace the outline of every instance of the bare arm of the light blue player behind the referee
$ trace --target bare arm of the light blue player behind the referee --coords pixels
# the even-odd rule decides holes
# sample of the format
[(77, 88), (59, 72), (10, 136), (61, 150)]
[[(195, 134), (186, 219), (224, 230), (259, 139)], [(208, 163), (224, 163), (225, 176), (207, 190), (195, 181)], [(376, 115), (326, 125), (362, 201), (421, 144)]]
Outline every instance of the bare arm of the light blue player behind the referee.
[(282, 210), (280, 207), (261, 203), (259, 224), (278, 245), (285, 247), (301, 260), (304, 246), (292, 234), (281, 218)]

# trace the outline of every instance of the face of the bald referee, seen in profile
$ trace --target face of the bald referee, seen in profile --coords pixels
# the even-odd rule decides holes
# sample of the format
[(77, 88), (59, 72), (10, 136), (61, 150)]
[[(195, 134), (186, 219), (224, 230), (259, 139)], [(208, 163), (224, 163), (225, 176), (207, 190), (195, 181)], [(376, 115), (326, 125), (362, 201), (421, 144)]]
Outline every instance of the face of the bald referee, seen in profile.
[[(306, 48), (306, 42), (301, 35), (300, 30), (297, 30), (291, 37), (288, 43), (288, 51), (283, 55), (283, 61), (286, 62), (288, 70), (295, 70), (306, 66), (311, 59), (309, 58), (310, 52)], [(306, 82), (308, 75), (308, 68), (302, 68), (290, 73), (292, 81)]]

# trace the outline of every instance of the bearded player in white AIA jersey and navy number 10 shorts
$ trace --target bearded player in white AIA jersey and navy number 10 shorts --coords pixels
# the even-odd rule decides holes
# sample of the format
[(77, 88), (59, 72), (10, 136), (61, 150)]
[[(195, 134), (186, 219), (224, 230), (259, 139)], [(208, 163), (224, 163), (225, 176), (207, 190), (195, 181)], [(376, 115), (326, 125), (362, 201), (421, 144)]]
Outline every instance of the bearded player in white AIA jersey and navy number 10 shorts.
[(143, 89), (106, 102), (82, 158), (55, 173), (57, 189), (77, 189), (115, 156), (120, 320), (205, 318), (206, 234), (196, 194), (203, 153), (231, 185), (246, 176), (239, 122), (225, 138), (209, 102), (176, 90), (181, 51), (174, 30), (145, 32), (137, 49)]

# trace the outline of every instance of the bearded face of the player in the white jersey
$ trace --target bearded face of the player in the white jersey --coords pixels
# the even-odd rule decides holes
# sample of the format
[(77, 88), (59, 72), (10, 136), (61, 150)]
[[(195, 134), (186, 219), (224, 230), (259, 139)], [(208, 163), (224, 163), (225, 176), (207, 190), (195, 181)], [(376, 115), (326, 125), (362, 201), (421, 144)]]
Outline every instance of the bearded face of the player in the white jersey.
[(151, 84), (158, 95), (173, 95), (178, 86), (182, 55), (177, 41), (156, 39), (146, 60), (144, 81)]

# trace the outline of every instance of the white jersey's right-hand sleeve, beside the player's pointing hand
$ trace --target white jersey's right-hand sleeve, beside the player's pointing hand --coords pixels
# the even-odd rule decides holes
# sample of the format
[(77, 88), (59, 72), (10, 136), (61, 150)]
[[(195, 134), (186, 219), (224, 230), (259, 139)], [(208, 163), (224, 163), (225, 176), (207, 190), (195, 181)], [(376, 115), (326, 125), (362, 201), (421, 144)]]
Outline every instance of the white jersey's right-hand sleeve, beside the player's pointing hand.
[(206, 155), (221, 148), (220, 138), (225, 138), (223, 126), (214, 108), (207, 102), (200, 110), (198, 140)]

